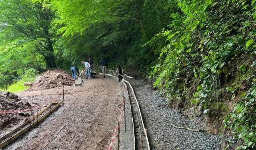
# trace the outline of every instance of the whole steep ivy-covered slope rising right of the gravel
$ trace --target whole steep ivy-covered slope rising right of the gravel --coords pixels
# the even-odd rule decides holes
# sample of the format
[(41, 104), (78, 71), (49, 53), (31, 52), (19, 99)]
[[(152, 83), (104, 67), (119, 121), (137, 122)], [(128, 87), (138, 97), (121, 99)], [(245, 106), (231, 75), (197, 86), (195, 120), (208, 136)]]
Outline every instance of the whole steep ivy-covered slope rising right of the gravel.
[(156, 35), (168, 44), (150, 77), (170, 100), (200, 106), (211, 117), (228, 112), (227, 101), (236, 100), (224, 123), (232, 141), (243, 142), (238, 148), (254, 149), (256, 0), (177, 1), (181, 13)]

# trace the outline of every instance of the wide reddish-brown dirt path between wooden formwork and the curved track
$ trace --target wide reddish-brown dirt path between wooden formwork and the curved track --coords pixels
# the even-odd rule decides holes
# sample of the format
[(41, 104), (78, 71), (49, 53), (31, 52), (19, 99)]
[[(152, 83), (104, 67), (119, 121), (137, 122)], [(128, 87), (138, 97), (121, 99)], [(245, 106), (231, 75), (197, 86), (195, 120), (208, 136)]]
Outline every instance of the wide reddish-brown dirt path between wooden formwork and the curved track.
[[(106, 150), (121, 109), (122, 87), (112, 78), (85, 80), (84, 85), (67, 87), (64, 107), (4, 149)], [(19, 96), (35, 98), (61, 90), (22, 92)]]

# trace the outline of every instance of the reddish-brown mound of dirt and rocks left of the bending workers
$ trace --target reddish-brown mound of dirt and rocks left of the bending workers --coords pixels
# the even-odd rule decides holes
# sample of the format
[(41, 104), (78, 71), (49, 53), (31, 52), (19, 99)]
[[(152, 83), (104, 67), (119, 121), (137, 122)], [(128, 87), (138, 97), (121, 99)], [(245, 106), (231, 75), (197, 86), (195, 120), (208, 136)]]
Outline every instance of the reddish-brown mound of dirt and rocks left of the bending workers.
[(35, 82), (28, 91), (45, 90), (63, 85), (72, 86), (75, 83), (68, 72), (58, 69), (47, 70), (42, 76), (38, 76)]

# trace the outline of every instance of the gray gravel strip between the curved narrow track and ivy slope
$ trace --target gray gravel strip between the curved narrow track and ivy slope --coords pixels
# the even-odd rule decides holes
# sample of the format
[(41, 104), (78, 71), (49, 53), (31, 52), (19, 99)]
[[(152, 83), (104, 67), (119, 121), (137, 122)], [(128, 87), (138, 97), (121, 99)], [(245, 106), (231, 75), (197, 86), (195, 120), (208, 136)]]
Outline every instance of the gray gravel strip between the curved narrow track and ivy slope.
[(221, 150), (219, 136), (211, 136), (204, 132), (192, 132), (171, 126), (201, 129), (189, 118), (182, 116), (178, 110), (158, 107), (167, 100), (151, 90), (143, 80), (129, 80), (132, 84), (142, 115), (147, 126), (148, 138), (152, 150)]

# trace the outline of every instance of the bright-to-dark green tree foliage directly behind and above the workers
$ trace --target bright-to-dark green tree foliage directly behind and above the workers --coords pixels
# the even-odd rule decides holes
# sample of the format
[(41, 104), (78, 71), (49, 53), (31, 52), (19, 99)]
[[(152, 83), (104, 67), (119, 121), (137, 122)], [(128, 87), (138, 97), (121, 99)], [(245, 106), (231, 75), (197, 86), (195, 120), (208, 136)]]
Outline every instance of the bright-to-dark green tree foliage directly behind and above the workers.
[(53, 0), (51, 3), (61, 18), (59, 23), (65, 24), (59, 30), (65, 31), (64, 37), (55, 45), (58, 66), (81, 65), (81, 60), (88, 58), (99, 63), (104, 56), (108, 69), (125, 65), (136, 74), (147, 74), (157, 60), (161, 49), (155, 48), (165, 42), (144, 44), (166, 28), (172, 19), (170, 13), (177, 11), (175, 2), (166, 0)]

